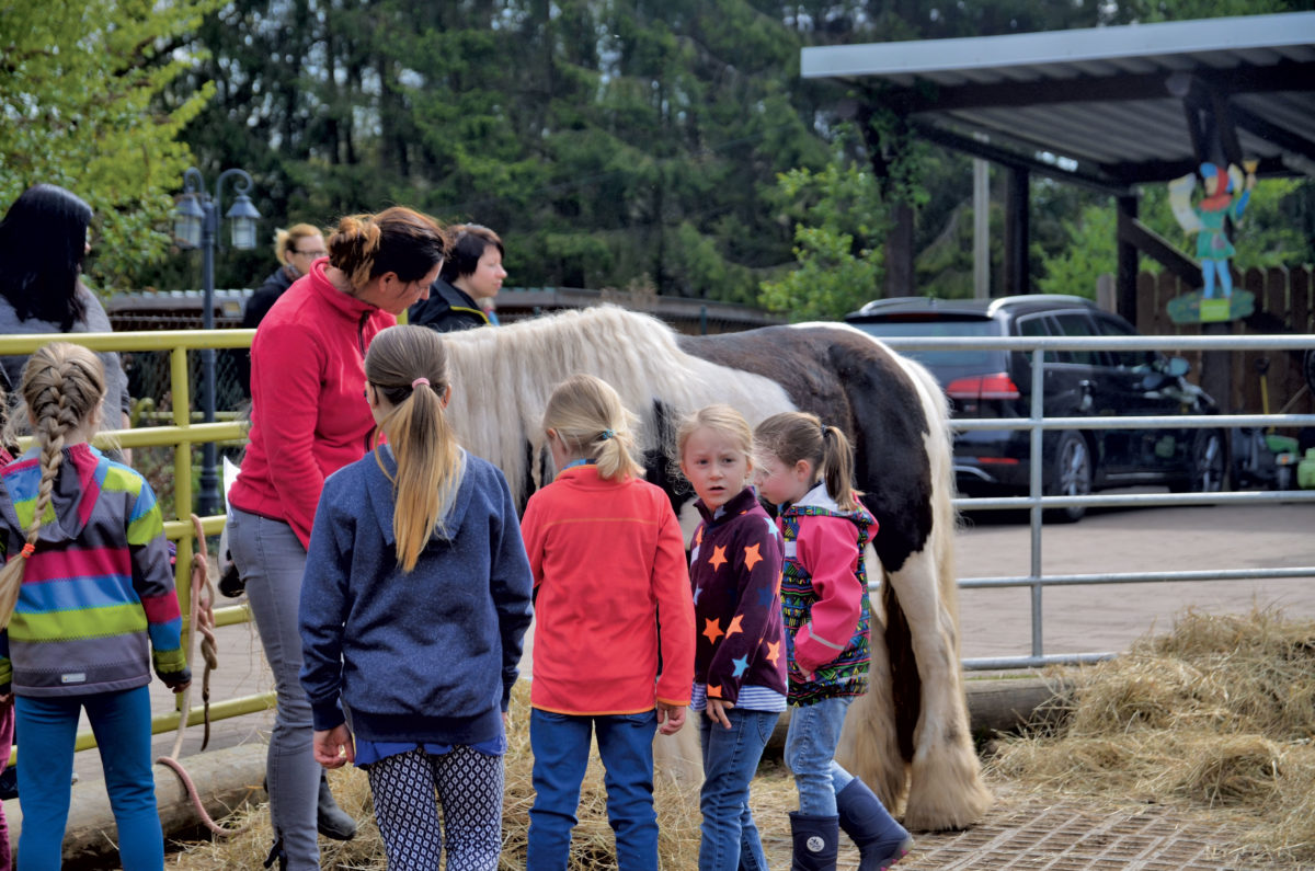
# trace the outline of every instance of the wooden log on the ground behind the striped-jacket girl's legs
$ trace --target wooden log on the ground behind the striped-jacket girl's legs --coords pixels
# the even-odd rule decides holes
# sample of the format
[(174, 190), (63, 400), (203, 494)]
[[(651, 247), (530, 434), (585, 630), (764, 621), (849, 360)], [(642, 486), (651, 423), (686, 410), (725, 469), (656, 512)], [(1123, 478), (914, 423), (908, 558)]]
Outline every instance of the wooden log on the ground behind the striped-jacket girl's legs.
[[(267, 747), (263, 743), (239, 745), (184, 757), (183, 767), (196, 784), (205, 810), (214, 820), (221, 820), (249, 801), (264, 801), (260, 783), (264, 779), (266, 754)], [(203, 825), (178, 775), (160, 764), (154, 767), (154, 774), (155, 804), (159, 808), (164, 837)], [(22, 832), (22, 809), (18, 799), (4, 803), (4, 814), (9, 822), (9, 843), (17, 855), (18, 835)], [(72, 801), (68, 805), (68, 825), (64, 829), (64, 862), (113, 854), (117, 843), (114, 814), (109, 808), (105, 782), (95, 779), (75, 783)]]

